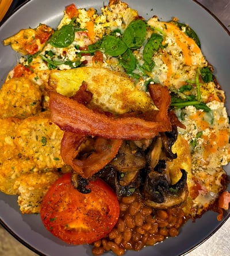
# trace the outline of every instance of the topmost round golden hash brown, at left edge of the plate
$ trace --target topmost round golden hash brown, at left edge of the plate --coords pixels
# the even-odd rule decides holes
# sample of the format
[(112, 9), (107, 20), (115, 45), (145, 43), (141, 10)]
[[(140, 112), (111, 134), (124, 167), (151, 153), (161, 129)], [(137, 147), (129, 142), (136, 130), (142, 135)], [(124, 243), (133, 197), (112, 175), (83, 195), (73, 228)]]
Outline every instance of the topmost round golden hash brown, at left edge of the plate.
[(26, 78), (11, 78), (0, 90), (0, 117), (25, 119), (41, 111), (41, 90)]

